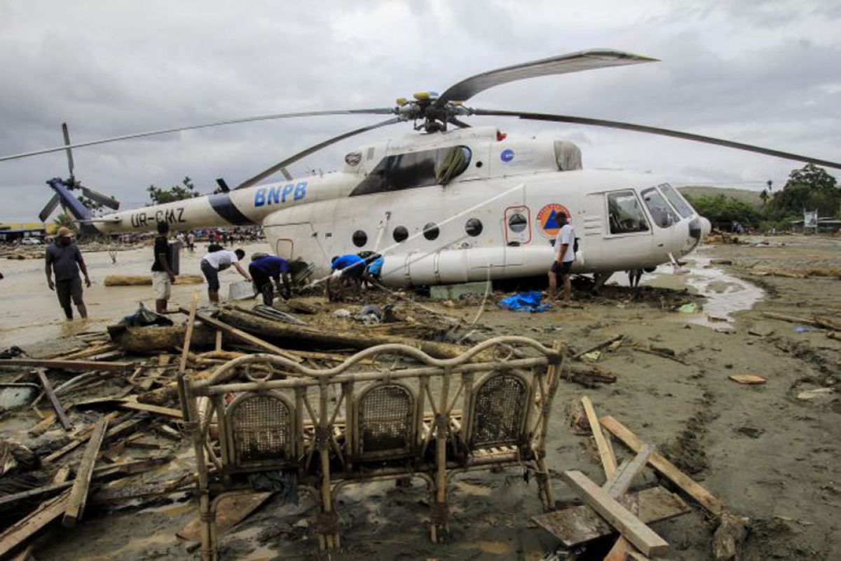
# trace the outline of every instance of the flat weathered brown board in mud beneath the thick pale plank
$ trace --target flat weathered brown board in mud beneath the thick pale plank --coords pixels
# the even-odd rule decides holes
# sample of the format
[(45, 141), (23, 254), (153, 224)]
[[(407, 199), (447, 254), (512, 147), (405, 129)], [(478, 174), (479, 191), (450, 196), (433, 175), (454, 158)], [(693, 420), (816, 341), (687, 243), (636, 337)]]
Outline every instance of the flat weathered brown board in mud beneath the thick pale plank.
[[(689, 507), (678, 495), (663, 487), (630, 493), (617, 500), (623, 505), (630, 505), (631, 501), (636, 501), (639, 504), (639, 519), (647, 524), (689, 512)], [(561, 540), (565, 548), (574, 548), (616, 533), (615, 528), (586, 505), (539, 514), (532, 516), (532, 520)]]

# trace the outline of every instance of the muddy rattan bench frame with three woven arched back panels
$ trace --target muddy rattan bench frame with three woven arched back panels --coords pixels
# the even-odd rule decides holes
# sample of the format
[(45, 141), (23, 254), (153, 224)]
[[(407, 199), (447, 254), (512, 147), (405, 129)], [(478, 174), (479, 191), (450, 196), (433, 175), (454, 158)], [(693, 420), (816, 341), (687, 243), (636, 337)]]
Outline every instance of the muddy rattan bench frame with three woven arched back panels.
[(421, 478), (433, 542), (448, 533), (447, 484), (466, 471), (529, 469), (544, 510), (551, 510), (544, 458), (565, 354), (559, 342), (550, 349), (503, 336), (449, 359), (388, 344), (313, 369), (259, 353), (235, 358), (209, 378), (184, 378), (202, 558), (217, 558), (220, 500), (249, 490), (245, 478), (255, 473), (294, 475), (297, 489), (320, 507), (322, 550), (341, 547), (334, 503), (352, 483)]

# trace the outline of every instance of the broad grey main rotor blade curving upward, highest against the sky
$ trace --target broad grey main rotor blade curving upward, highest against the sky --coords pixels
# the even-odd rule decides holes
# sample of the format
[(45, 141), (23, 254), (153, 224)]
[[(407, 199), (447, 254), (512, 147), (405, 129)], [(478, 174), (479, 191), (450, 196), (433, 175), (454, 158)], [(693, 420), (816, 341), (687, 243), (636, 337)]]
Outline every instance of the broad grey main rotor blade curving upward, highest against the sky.
[(489, 72), (483, 72), (469, 77), (449, 87), (436, 99), (435, 108), (444, 107), (450, 101), (467, 101), (479, 92), (489, 87), (500, 86), (508, 82), (551, 76), (553, 74), (567, 74), (606, 68), (608, 66), (623, 66), (641, 62), (659, 62), (648, 56), (634, 55), (621, 50), (590, 49), (569, 53), (568, 55), (553, 56), (540, 61), (524, 62), (514, 66), (505, 66)]

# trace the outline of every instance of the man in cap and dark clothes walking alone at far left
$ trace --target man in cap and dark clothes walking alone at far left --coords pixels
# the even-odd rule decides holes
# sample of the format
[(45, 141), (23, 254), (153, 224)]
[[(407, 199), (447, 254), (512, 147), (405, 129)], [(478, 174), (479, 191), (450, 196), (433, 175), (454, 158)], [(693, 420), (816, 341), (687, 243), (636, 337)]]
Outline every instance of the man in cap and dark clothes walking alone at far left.
[[(91, 279), (87, 277), (87, 267), (82, 259), (82, 252), (72, 244), (73, 233), (70, 229), (62, 226), (58, 229), (56, 241), (47, 247), (45, 255), (45, 272), (47, 275), (47, 286), (55, 290), (58, 295), (58, 302), (64, 310), (68, 320), (73, 319), (73, 309), (70, 305), (71, 299), (79, 310), (82, 319), (87, 318), (87, 308), (82, 300), (82, 279), (79, 278), (79, 269), (85, 276), (85, 286), (90, 288)], [(56, 282), (53, 283), (52, 273), (56, 272)]]

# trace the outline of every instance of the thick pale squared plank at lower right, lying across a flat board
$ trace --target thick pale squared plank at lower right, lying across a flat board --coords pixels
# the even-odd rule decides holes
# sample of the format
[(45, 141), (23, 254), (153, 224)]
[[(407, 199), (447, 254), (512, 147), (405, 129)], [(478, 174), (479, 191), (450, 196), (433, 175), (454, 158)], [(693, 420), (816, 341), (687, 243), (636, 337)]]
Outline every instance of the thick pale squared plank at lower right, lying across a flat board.
[(651, 556), (669, 551), (669, 543), (611, 498), (605, 490), (590, 481), (586, 475), (579, 471), (566, 471), (563, 472), (563, 479), (579, 492), (584, 503), (610, 522), (611, 526), (619, 530), (622, 536), (642, 553)]

